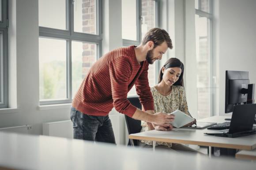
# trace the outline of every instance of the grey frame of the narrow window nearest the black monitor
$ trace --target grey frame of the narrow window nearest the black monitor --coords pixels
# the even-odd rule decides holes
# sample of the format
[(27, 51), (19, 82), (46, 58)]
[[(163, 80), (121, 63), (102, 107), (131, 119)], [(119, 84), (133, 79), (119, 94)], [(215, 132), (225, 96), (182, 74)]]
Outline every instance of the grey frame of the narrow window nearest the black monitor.
[(201, 0), (198, 0), (198, 9), (195, 8), (195, 14), (197, 14), (199, 17), (206, 17), (207, 19), (209, 19), (209, 25), (207, 28), (207, 31), (209, 33), (208, 35), (208, 39), (209, 39), (209, 100), (210, 100), (210, 116), (213, 116), (214, 113), (214, 101), (215, 101), (215, 81), (214, 79), (214, 72), (215, 72), (215, 58), (213, 56), (213, 1), (209, 0), (209, 13), (202, 11), (201, 10)]

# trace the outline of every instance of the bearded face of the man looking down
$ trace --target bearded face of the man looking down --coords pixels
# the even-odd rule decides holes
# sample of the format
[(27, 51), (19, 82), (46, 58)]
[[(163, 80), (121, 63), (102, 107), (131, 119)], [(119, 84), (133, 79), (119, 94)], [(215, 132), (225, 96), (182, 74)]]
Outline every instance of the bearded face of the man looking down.
[(152, 50), (147, 51), (146, 60), (149, 64), (153, 64), (156, 60), (162, 59), (162, 54), (165, 54), (168, 50), (166, 42), (163, 42), (161, 45), (158, 45)]

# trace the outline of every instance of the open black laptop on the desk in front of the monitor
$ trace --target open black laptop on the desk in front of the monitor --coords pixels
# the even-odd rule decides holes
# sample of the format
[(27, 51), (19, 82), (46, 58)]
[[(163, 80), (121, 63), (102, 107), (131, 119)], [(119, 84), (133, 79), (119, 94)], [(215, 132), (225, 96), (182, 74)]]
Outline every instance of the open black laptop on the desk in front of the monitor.
[(256, 114), (256, 104), (235, 105), (230, 122), (230, 129), (207, 132), (204, 134), (222, 137), (241, 137), (255, 134), (253, 129)]

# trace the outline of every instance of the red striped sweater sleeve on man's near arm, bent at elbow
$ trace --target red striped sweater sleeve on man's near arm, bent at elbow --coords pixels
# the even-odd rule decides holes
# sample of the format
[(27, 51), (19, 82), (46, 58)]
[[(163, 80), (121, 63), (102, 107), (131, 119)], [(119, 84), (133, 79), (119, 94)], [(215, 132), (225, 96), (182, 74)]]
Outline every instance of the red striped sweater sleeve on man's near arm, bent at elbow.
[(128, 58), (120, 57), (109, 62), (109, 75), (111, 81), (113, 106), (117, 112), (132, 117), (136, 111), (127, 99), (128, 78), (132, 73), (132, 64)]

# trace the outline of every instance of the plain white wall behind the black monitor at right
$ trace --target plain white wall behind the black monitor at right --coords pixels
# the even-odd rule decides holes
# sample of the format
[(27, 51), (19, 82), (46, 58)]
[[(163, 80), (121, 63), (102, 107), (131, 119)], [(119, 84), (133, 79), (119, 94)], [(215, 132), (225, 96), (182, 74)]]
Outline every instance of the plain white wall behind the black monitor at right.
[(219, 1), (219, 113), (225, 112), (225, 70), (249, 71), (256, 83), (256, 0)]

